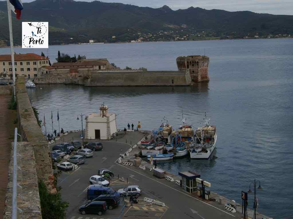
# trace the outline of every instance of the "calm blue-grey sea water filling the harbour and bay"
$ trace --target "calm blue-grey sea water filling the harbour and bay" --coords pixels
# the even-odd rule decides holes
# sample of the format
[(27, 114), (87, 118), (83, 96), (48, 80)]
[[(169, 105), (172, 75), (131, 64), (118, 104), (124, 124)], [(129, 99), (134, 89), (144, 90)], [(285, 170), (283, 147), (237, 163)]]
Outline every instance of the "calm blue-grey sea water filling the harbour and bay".
[[(211, 190), (241, 203), (254, 178), (259, 211), (274, 218), (293, 218), (293, 39), (154, 42), (50, 46), (21, 49), (16, 53), (57, 52), (108, 58), (118, 67), (176, 70), (179, 55), (210, 57), (209, 83), (194, 87), (83, 87), (38, 85), (28, 90), (32, 104), (47, 123), (53, 111), (57, 129), (81, 128), (77, 114), (98, 112), (105, 102), (117, 116), (118, 128), (142, 122), (142, 129), (158, 128), (163, 116), (173, 127), (181, 123), (181, 110), (188, 123), (200, 126), (204, 112), (217, 127), (217, 159), (184, 158), (159, 166), (178, 173), (193, 170), (212, 183)], [(9, 48), (0, 49), (8, 54)], [(50, 130), (50, 125), (47, 127)], [(249, 194), (249, 207), (253, 194)], [(251, 216), (251, 215), (250, 215)]]

